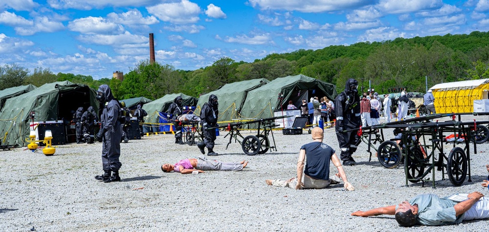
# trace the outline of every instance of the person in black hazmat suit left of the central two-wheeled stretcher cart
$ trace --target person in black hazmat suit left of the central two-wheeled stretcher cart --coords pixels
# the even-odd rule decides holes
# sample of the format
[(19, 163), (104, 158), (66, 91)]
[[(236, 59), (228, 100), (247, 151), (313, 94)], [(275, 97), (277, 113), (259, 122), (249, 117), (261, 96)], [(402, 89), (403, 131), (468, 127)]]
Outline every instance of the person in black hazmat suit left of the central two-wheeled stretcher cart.
[(207, 128), (217, 126), (217, 118), (219, 116), (218, 105), (217, 96), (211, 94), (209, 96), (209, 102), (206, 102), (200, 110), (200, 123), (202, 124), (204, 142), (198, 143), (197, 147), (202, 154), (205, 154), (204, 148), (207, 147), (207, 155), (218, 155), (218, 153), (212, 150), (214, 148), (214, 141), (216, 140), (216, 131), (207, 130)]

